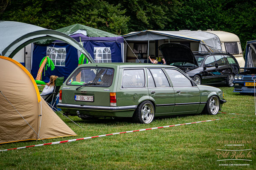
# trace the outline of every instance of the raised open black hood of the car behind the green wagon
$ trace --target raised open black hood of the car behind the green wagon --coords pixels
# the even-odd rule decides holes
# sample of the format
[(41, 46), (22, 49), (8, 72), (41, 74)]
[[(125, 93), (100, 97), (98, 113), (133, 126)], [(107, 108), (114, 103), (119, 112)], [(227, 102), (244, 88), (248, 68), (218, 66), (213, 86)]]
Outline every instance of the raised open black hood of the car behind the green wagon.
[(165, 43), (159, 46), (167, 65), (174, 62), (189, 62), (196, 66), (198, 63), (189, 47), (178, 43)]

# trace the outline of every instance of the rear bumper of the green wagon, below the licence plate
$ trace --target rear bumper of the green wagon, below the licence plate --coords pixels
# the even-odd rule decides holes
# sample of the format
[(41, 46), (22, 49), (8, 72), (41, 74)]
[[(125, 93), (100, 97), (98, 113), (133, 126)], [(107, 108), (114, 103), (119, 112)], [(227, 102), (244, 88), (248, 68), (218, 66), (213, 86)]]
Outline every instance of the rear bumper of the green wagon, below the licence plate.
[(81, 110), (90, 110), (90, 111), (129, 111), (135, 110), (137, 105), (131, 106), (94, 106), (94, 105), (74, 105), (66, 103), (58, 103), (58, 108), (69, 108), (69, 109), (81, 109)]

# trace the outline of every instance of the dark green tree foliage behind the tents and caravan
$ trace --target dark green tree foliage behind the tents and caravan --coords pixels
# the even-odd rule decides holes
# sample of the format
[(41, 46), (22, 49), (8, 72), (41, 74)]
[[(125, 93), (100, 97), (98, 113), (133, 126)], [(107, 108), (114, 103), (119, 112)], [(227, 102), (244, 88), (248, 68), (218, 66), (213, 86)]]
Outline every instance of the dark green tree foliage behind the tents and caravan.
[(75, 23), (119, 35), (146, 29), (214, 29), (238, 35), (242, 48), (246, 41), (256, 39), (254, 0), (1, 0), (1, 3), (5, 6), (1, 8), (0, 20), (49, 29)]

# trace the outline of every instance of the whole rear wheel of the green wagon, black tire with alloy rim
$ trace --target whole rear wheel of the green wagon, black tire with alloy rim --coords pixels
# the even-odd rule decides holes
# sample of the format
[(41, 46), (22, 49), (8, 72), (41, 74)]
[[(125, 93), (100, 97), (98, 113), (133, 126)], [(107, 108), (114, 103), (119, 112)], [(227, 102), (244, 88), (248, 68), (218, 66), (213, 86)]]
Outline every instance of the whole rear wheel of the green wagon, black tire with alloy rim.
[(154, 105), (152, 104), (152, 102), (146, 100), (140, 103), (140, 105), (138, 105), (136, 111), (134, 112), (134, 122), (149, 124), (154, 119), (154, 112)]

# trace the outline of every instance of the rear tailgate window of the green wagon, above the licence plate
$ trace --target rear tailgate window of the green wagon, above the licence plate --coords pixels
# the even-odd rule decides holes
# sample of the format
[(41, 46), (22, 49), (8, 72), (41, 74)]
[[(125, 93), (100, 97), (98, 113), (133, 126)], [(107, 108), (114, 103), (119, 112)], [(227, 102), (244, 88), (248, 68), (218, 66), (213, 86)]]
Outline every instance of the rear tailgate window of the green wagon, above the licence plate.
[(109, 87), (113, 82), (113, 68), (82, 67), (70, 76), (67, 85)]

